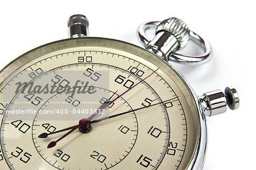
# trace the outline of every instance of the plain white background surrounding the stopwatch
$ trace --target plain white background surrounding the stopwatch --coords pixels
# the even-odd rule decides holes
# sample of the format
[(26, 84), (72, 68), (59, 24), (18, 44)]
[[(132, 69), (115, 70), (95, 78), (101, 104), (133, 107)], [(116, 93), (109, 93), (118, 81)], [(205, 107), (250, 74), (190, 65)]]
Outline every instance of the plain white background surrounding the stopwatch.
[(175, 67), (197, 95), (233, 85), (241, 99), (238, 110), (208, 117), (204, 169), (255, 169), (256, 12), (252, 2), (3, 1), (0, 68), (32, 48), (67, 38), (67, 19), (72, 14), (88, 16), (91, 36), (137, 45), (140, 45), (136, 38), (139, 24), (176, 16), (209, 40), (213, 59), (196, 67), (176, 64)]

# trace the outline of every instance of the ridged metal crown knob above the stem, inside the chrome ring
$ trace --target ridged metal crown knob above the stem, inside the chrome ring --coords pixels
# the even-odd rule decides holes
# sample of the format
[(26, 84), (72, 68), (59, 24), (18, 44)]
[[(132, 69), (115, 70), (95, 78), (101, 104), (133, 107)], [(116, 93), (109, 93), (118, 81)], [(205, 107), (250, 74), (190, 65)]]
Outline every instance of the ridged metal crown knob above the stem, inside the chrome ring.
[(156, 27), (156, 34), (160, 31), (167, 31), (174, 35), (179, 42), (179, 49), (184, 48), (188, 44), (190, 36), (188, 25), (179, 18), (172, 17), (163, 20)]

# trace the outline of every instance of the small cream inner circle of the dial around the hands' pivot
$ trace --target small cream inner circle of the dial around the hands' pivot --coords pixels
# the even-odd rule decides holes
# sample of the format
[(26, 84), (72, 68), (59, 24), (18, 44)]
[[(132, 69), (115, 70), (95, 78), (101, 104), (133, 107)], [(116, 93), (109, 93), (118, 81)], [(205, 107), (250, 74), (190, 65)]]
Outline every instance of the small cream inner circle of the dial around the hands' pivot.
[[(86, 87), (73, 90), (78, 88)], [(66, 90), (55, 94), (35, 116), (32, 126), (34, 145), (40, 156), (55, 168), (109, 169), (125, 159), (134, 147), (138, 122), (129, 103), (122, 97), (112, 102), (118, 95), (110, 90), (96, 87), (90, 90), (94, 93), (73, 94)], [(111, 104), (99, 110), (105, 103)], [(106, 119), (127, 111), (131, 112)], [(79, 125), (81, 120), (93, 114), (97, 115), (91, 120), (90, 127), (77, 128), (55, 147), (47, 148), (49, 143), (60, 139), (71, 128), (57, 131)]]

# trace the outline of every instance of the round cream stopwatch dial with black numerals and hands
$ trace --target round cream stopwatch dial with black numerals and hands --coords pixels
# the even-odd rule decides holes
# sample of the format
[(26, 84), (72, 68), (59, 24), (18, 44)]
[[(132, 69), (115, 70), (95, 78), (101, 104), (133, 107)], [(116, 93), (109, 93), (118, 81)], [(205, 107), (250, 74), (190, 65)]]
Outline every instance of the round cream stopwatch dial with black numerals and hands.
[(195, 155), (195, 99), (144, 49), (63, 40), (0, 76), (0, 169), (186, 169)]

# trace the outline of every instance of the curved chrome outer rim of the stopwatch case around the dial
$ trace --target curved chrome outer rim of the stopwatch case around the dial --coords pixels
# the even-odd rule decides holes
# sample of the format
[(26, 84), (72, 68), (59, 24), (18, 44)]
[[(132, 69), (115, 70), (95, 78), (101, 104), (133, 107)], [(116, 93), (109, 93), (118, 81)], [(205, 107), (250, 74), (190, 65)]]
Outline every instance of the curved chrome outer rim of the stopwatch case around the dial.
[[(193, 153), (191, 162), (188, 165), (187, 169), (193, 169), (193, 170), (202, 169), (204, 165), (205, 152), (207, 149), (207, 125), (206, 125), (205, 115), (203, 114), (203, 110), (200, 107), (199, 99), (197, 98), (196, 93), (193, 91), (193, 89), (185, 80), (185, 78), (174, 67), (172, 67), (172, 65), (168, 64), (166, 61), (160, 59), (160, 57), (147, 51), (146, 49), (138, 47), (137, 45), (130, 44), (127, 42), (122, 42), (120, 40), (96, 38), (96, 37), (64, 39), (64, 40), (48, 43), (24, 53), (23, 55), (19, 56), (15, 60), (11, 61), (11, 63), (6, 65), (6, 67), (0, 71), (0, 85), (7, 77), (10, 76), (11, 73), (16, 71), (20, 67), (22, 67), (22, 65), (26, 64), (28, 61), (36, 59), (37, 57), (45, 55), (46, 53), (54, 52), (60, 49), (72, 48), (72, 47), (82, 47), (82, 46), (88, 47), (92, 45), (94, 47), (95, 46), (104, 47), (106, 44), (112, 44), (111, 47), (109, 47), (108, 45), (108, 48), (119, 49), (129, 53), (133, 53), (134, 51), (136, 51), (135, 55), (138, 55), (139, 53), (147, 53), (148, 57), (154, 57), (156, 60), (158, 60), (158, 62), (163, 64), (163, 67), (168, 67), (173, 72), (175, 72), (176, 75), (183, 82), (183, 84), (187, 87), (187, 89), (191, 93), (191, 96), (189, 97), (192, 97), (193, 101), (195, 102), (196, 109), (197, 109), (196, 114), (198, 114), (197, 117), (199, 118), (197, 144), (196, 144), (195, 152)], [(148, 60), (146, 57), (142, 57), (142, 58)]]

